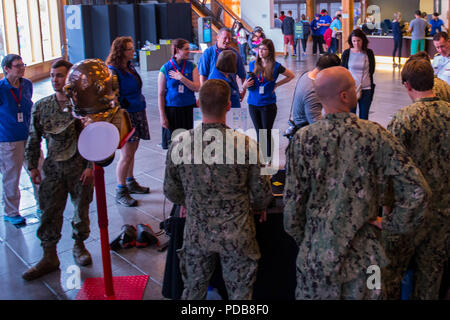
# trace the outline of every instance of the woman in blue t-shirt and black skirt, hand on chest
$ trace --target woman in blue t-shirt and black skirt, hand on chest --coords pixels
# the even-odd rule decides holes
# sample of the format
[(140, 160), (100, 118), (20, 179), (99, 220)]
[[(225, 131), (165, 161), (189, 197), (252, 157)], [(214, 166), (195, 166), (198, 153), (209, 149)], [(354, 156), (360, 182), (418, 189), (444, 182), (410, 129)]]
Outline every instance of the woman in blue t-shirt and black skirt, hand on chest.
[(194, 127), (195, 93), (200, 90), (197, 66), (189, 61), (189, 41), (172, 42), (172, 58), (158, 76), (158, 108), (162, 127), (162, 148), (168, 149), (172, 133)]

